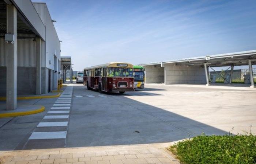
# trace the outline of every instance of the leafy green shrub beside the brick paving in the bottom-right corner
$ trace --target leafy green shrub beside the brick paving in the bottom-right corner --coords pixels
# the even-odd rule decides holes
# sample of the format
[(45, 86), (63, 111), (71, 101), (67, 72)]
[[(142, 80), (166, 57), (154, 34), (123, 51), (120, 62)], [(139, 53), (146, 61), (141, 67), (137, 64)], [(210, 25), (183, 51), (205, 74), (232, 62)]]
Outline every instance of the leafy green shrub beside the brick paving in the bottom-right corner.
[(255, 164), (256, 136), (202, 136), (169, 147), (183, 164)]

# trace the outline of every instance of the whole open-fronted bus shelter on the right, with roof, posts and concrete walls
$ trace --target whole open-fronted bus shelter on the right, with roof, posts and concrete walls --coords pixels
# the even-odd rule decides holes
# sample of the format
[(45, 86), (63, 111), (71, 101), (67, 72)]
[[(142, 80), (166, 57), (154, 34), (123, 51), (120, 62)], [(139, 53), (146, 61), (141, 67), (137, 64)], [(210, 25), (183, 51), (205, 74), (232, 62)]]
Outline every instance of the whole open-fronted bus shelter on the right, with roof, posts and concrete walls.
[(249, 83), (251, 87), (255, 87), (253, 76), (256, 73), (252, 71), (252, 65), (255, 64), (256, 50), (252, 50), (145, 63), (142, 66), (145, 68), (146, 83), (206, 85), (210, 85), (212, 82), (209, 69), (214, 70), (214, 67), (229, 66), (231, 73), (229, 74), (228, 83), (231, 83), (234, 66), (248, 66)]

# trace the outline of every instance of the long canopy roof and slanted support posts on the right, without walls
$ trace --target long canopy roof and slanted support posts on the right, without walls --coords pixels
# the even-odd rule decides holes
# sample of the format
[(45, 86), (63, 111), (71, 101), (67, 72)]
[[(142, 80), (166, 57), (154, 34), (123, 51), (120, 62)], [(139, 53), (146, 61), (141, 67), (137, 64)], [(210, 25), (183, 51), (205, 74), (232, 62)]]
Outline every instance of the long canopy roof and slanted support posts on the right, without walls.
[[(148, 70), (152, 70), (150, 72), (150, 75), (156, 71), (156, 69), (152, 69), (150, 66), (154, 66), (155, 68), (158, 67), (164, 67), (165, 71), (165, 83), (166, 83), (166, 74), (168, 75), (168, 72), (166, 73), (166, 67), (170, 66), (181, 66), (183, 68), (186, 67), (187, 72), (185, 74), (189, 75), (189, 77), (192, 77), (191, 70), (193, 67), (196, 68), (204, 68), (204, 73), (206, 76), (206, 85), (210, 85), (209, 78), (208, 78), (208, 69), (212, 67), (222, 67), (222, 66), (230, 66), (231, 67), (231, 76), (233, 73), (234, 66), (249, 66), (249, 74), (250, 74), (250, 81), (251, 81), (251, 87), (254, 87), (253, 82), (253, 72), (252, 72), (252, 65), (256, 64), (256, 50), (251, 51), (241, 51), (241, 52), (233, 52), (233, 53), (227, 53), (227, 54), (218, 54), (218, 55), (206, 55), (206, 56), (199, 56), (195, 58), (185, 58), (185, 59), (177, 59), (177, 60), (167, 60), (162, 62), (154, 62), (154, 63), (146, 63), (142, 64), (142, 66), (146, 67), (148, 66)], [(189, 69), (191, 68), (191, 69)], [(147, 70), (147, 69), (146, 69)], [(178, 69), (171, 69), (171, 71), (184, 71), (178, 70)], [(214, 70), (214, 69), (213, 69)], [(170, 68), (168, 69), (170, 71)], [(198, 69), (197, 71), (201, 71)], [(169, 73), (170, 76), (170, 73)], [(172, 76), (173, 78), (174, 76)], [(195, 77), (193, 77), (195, 78)], [(191, 79), (193, 79), (191, 78)], [(192, 81), (189, 79), (190, 81)], [(230, 83), (231, 83), (230, 78)]]

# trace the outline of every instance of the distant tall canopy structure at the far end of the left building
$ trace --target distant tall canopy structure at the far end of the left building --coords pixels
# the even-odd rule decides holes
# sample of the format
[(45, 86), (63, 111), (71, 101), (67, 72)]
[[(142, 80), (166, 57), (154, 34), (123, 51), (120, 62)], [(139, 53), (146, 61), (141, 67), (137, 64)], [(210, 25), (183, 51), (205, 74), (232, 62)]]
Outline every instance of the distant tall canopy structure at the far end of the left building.
[(71, 56), (61, 56), (60, 67), (61, 67), (61, 78), (63, 82), (64, 83), (67, 82), (67, 77), (69, 77), (70, 83), (72, 83)]

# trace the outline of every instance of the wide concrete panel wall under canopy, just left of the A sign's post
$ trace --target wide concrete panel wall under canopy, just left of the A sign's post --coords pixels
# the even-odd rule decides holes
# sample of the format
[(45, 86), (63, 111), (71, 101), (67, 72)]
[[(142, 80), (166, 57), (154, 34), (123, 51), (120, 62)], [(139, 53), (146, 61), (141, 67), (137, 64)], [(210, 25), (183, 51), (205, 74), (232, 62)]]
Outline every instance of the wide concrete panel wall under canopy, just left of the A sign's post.
[(205, 84), (203, 67), (175, 66), (165, 64), (165, 84)]

